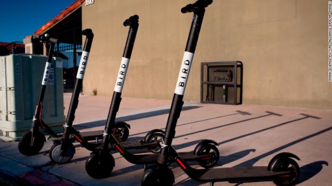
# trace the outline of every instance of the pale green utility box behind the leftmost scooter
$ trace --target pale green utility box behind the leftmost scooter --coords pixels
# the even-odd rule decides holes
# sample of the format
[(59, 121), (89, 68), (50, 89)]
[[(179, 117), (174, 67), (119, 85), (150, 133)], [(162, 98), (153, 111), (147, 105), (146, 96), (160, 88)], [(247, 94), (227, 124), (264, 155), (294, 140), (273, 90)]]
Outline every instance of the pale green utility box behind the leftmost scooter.
[[(30, 129), (41, 91), (46, 56), (12, 54), (0, 56), (0, 138), (18, 141)], [(52, 59), (52, 66), (42, 107), (42, 120), (55, 132), (62, 130), (63, 113), (62, 59)]]

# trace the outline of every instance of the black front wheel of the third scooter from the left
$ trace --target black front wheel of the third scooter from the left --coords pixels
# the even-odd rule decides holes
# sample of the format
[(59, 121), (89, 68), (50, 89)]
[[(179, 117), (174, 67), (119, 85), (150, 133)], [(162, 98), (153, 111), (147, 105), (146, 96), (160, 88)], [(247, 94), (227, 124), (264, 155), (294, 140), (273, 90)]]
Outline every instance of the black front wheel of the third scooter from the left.
[(85, 162), (86, 172), (89, 174), (89, 176), (96, 179), (109, 177), (114, 166), (114, 157), (109, 153), (102, 155), (99, 153), (93, 153)]

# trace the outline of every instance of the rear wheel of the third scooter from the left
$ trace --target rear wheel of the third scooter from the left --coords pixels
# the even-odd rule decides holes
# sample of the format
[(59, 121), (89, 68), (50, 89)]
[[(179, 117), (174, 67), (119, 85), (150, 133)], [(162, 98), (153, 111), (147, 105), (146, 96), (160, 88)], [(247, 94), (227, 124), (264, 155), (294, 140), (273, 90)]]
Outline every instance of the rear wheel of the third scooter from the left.
[(204, 157), (198, 161), (198, 164), (204, 168), (211, 168), (217, 164), (219, 160), (219, 150), (212, 144), (207, 144), (198, 151), (198, 155), (211, 155), (210, 157)]

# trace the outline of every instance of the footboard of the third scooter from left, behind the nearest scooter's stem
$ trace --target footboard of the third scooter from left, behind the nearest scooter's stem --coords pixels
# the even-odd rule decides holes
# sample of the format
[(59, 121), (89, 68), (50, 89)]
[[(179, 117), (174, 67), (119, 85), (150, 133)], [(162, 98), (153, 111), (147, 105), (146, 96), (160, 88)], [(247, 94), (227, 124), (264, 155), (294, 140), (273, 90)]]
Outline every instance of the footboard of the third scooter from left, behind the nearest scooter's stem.
[[(182, 152), (182, 153), (178, 153), (179, 155), (181, 155), (181, 157), (183, 159), (185, 159), (186, 161), (196, 161), (199, 160), (202, 157), (206, 157), (207, 155), (195, 155), (194, 151), (190, 151), (190, 152)], [(149, 164), (149, 163), (155, 163), (158, 160), (158, 156), (159, 154), (145, 154), (145, 155), (135, 155), (136, 162), (137, 164)], [(168, 160), (167, 162), (174, 162), (173, 159), (171, 159), (171, 156), (168, 156)]]

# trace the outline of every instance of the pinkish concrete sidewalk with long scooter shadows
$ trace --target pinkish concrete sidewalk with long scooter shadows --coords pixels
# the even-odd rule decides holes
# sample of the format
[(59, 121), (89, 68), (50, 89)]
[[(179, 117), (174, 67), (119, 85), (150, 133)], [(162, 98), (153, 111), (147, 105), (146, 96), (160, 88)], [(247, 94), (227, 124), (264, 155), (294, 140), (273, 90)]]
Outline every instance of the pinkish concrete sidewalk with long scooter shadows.
[[(65, 94), (68, 108), (70, 94)], [(171, 100), (124, 97), (117, 120), (130, 124), (128, 141), (143, 139), (152, 129), (165, 127)], [(84, 130), (102, 130), (110, 98), (80, 96), (75, 125)], [(66, 113), (66, 111), (65, 111)], [(185, 102), (178, 120), (173, 146), (179, 152), (192, 151), (202, 139), (219, 143), (219, 166), (266, 166), (280, 152), (298, 155), (301, 167), (299, 185), (330, 185), (332, 162), (332, 110), (313, 110), (258, 105), (221, 105)], [(50, 162), (46, 142), (41, 153), (21, 155), (17, 142), (0, 142), (0, 172), (30, 185), (140, 185), (142, 165), (127, 162), (113, 152), (116, 166), (112, 176), (96, 180), (85, 172), (90, 152), (74, 144), (76, 154), (68, 164)], [(194, 163), (193, 167), (198, 165)], [(176, 185), (209, 185), (188, 178), (175, 164), (171, 165)], [(274, 185), (272, 182), (241, 185)], [(219, 182), (215, 185), (239, 185)]]

